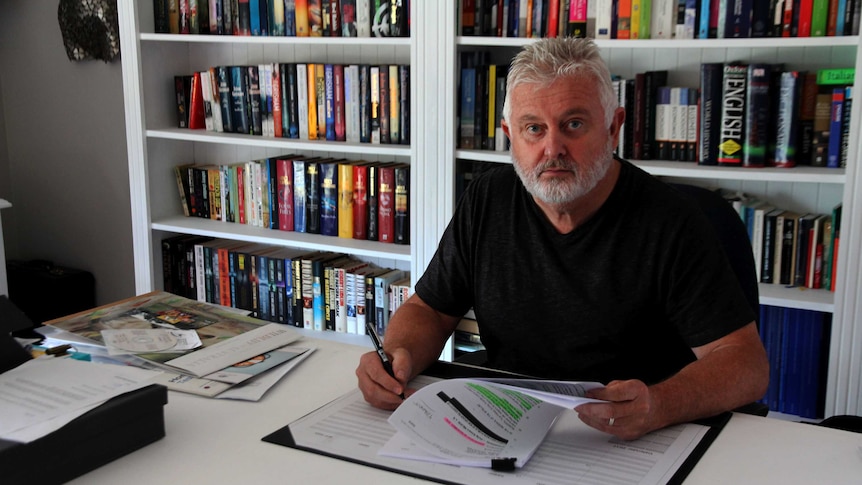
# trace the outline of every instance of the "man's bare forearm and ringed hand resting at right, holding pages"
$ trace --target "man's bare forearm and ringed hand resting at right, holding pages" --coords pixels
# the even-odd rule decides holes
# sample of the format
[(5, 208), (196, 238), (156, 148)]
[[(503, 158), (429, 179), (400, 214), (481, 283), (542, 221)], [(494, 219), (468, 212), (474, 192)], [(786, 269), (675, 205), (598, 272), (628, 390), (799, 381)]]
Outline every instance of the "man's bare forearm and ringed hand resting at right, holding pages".
[(594, 428), (634, 439), (735, 409), (766, 393), (769, 362), (754, 322), (692, 350), (697, 360), (665, 381), (652, 386), (613, 381), (596, 390), (591, 397), (613, 402), (578, 406), (579, 417)]

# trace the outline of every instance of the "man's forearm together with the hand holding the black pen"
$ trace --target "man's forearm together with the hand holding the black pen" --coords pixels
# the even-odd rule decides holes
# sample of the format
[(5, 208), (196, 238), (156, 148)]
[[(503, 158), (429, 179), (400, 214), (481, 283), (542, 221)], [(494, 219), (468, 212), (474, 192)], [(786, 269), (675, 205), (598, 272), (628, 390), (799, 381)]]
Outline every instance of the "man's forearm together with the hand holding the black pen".
[(398, 407), (407, 382), (437, 360), (459, 321), (460, 317), (434, 310), (415, 294), (401, 304), (383, 336), (395, 379), (383, 369), (376, 352), (364, 354), (356, 377), (365, 400), (382, 409)]

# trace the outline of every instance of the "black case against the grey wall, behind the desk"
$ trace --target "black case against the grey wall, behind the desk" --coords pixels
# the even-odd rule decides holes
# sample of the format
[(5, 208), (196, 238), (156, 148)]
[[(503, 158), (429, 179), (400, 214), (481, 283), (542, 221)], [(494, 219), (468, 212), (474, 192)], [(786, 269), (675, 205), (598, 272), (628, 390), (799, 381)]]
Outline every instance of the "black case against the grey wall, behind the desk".
[(36, 325), (96, 306), (90, 272), (44, 260), (10, 260), (6, 269), (9, 299)]

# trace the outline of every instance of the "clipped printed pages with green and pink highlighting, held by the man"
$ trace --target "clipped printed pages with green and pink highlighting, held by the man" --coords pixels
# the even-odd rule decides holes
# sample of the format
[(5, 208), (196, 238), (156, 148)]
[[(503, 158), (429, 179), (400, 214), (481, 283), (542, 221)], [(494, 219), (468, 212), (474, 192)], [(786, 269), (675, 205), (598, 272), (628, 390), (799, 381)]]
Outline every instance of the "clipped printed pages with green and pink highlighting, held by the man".
[(598, 382), (509, 378), (441, 380), (389, 417), (398, 432), (380, 454), (495, 469), (523, 467), (562, 412)]

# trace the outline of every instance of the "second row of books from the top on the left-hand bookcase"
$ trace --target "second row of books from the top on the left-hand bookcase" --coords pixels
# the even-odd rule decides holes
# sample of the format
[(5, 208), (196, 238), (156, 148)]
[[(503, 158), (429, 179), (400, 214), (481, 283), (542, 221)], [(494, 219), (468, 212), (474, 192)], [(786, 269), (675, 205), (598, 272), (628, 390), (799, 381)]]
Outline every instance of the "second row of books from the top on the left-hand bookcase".
[(410, 143), (410, 66), (266, 63), (175, 76), (178, 126), (275, 138)]

